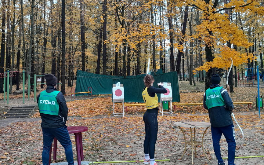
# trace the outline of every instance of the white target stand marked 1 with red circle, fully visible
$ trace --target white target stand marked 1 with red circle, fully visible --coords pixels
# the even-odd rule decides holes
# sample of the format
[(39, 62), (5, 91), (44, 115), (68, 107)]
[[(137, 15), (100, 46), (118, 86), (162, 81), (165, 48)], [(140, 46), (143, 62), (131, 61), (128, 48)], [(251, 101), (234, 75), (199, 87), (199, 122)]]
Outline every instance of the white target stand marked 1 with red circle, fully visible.
[[(113, 84), (112, 97), (113, 97), (113, 115), (124, 117), (124, 114), (125, 114), (124, 99), (125, 99), (125, 97), (124, 97), (124, 86), (123, 86), (123, 84)], [(116, 113), (115, 109), (114, 109), (114, 103), (122, 103), (123, 112)]]

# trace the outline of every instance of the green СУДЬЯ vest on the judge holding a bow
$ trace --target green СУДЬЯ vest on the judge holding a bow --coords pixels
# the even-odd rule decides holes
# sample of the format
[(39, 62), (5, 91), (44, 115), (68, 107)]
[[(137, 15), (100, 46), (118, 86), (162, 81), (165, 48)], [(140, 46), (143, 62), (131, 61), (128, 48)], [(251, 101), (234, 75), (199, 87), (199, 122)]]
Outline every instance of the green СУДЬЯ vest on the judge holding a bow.
[(225, 105), (224, 99), (222, 98), (222, 94), (220, 90), (222, 86), (215, 87), (213, 89), (208, 89), (205, 91), (206, 101), (205, 104), (209, 108), (219, 107)]

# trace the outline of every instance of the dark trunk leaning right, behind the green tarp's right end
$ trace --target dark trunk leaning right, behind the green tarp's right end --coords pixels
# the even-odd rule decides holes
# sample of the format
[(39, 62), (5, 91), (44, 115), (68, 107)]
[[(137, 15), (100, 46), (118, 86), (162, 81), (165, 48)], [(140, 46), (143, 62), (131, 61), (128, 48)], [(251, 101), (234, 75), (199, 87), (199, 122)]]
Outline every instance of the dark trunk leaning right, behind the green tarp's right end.
[[(187, 25), (187, 19), (188, 19), (188, 5), (185, 6), (184, 9), (184, 19), (183, 19), (183, 29), (182, 29), (182, 37), (180, 39), (180, 45), (183, 46), (183, 42), (184, 42), (184, 36), (185, 36), (185, 32), (186, 32), (186, 25)], [(182, 58), (182, 51), (178, 51), (178, 59), (176, 62), (176, 71), (177, 74), (179, 75), (179, 69), (180, 69), (180, 63), (181, 63), (181, 58)]]

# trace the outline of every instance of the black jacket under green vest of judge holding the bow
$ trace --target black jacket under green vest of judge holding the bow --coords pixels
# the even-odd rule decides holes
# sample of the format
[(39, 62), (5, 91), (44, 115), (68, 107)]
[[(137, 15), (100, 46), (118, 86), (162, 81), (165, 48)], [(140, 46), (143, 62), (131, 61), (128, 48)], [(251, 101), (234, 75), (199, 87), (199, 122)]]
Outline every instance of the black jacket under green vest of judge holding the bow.
[[(212, 84), (210, 88), (215, 88), (219, 85)], [(210, 123), (212, 127), (226, 127), (233, 124), (231, 117), (231, 111), (234, 109), (232, 99), (229, 97), (227, 90), (222, 88), (220, 90), (222, 98), (224, 99), (225, 105), (209, 108), (206, 106), (206, 95), (204, 93), (204, 108), (208, 109)]]

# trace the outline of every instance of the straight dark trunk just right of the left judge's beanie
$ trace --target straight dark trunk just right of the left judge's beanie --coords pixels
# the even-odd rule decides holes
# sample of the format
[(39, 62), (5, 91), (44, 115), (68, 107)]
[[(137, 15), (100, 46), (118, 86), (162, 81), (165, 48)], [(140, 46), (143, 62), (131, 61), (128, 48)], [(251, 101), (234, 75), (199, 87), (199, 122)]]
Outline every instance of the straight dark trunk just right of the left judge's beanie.
[(66, 94), (65, 91), (65, 40), (66, 40), (66, 28), (65, 28), (65, 0), (61, 0), (61, 21), (62, 21), (62, 45), (61, 45), (61, 92), (62, 94)]

